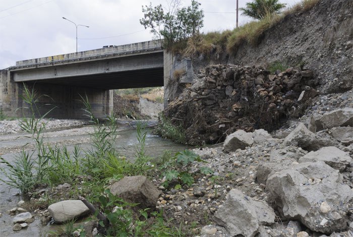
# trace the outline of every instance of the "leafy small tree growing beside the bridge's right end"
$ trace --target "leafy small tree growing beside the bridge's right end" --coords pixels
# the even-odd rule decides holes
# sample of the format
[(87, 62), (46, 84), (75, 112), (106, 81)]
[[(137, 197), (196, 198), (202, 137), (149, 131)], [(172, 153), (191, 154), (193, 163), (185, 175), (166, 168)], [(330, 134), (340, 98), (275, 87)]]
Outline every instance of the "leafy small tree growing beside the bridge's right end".
[(195, 37), (203, 27), (204, 14), (200, 3), (192, 0), (191, 6), (181, 8), (180, 5), (180, 0), (171, 1), (167, 12), (162, 5), (142, 6), (144, 18), (140, 19), (141, 25), (151, 29), (155, 38), (164, 38), (167, 48), (175, 42)]

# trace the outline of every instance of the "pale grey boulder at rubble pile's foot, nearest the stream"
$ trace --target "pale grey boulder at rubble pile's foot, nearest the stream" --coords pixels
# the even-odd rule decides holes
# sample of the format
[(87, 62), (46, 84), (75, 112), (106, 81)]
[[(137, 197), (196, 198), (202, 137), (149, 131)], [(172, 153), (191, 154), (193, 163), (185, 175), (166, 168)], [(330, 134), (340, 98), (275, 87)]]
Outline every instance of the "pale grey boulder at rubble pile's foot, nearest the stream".
[(253, 133), (247, 133), (244, 130), (238, 130), (229, 134), (224, 141), (223, 149), (225, 152), (245, 149), (253, 144)]

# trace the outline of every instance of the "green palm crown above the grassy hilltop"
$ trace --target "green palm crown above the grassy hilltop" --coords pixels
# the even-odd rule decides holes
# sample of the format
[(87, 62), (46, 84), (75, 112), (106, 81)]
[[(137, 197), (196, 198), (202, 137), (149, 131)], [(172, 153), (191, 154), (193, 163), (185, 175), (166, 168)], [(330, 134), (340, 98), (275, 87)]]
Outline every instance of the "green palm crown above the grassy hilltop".
[(247, 3), (246, 8), (240, 8), (240, 11), (243, 16), (260, 20), (267, 15), (279, 13), (279, 11), (285, 7), (286, 4), (280, 4), (278, 1), (279, 0), (254, 0), (253, 2)]

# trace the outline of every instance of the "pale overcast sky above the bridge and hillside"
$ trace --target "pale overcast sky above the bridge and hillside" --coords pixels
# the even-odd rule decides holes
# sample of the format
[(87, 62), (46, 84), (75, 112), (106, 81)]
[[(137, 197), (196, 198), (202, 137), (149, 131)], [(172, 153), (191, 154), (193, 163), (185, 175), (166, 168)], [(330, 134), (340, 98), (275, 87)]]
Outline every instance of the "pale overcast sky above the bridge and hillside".
[[(167, 6), (170, 0), (0, 0), (0, 69), (16, 61), (152, 39), (140, 25), (142, 5)], [(236, 0), (200, 0), (205, 11), (203, 32), (233, 29)], [(239, 0), (244, 7), (250, 0)], [(300, 0), (280, 0), (293, 6)], [(184, 6), (191, 0), (182, 0)], [(250, 19), (240, 15), (240, 24)]]

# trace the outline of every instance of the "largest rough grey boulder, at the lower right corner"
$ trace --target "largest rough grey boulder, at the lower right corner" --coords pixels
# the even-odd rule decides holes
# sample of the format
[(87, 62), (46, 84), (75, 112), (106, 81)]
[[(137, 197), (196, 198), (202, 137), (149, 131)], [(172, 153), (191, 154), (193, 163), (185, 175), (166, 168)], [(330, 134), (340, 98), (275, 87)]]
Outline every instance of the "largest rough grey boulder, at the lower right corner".
[(273, 205), (285, 218), (300, 220), (313, 231), (332, 233), (346, 229), (353, 192), (342, 176), (322, 161), (301, 163), (267, 179)]

